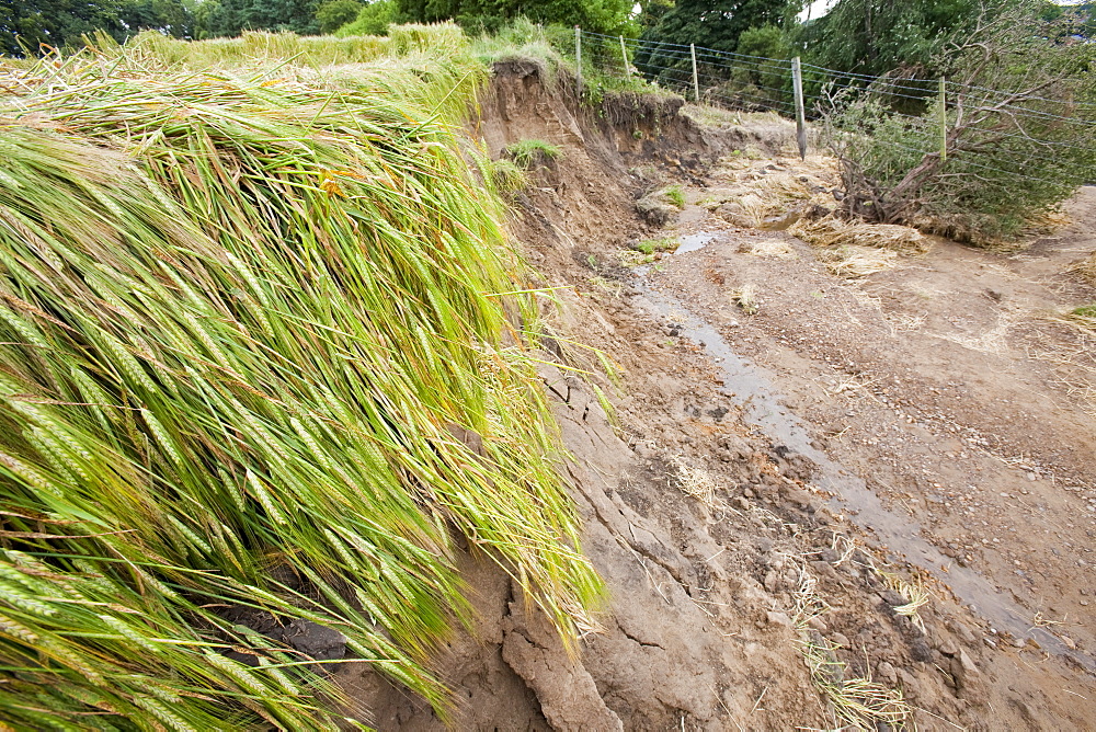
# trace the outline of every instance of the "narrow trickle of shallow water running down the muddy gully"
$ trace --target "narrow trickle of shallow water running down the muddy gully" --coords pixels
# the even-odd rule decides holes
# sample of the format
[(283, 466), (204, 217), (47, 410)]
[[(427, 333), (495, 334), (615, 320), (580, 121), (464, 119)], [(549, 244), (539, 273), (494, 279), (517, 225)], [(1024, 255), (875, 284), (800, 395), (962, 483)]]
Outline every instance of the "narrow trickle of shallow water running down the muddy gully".
[[(683, 252), (695, 251), (708, 243), (711, 235), (682, 238)], [(686, 242), (686, 240), (690, 240)], [(686, 249), (686, 243), (690, 248)], [(774, 379), (764, 369), (734, 353), (717, 329), (698, 318), (676, 297), (661, 293), (647, 278), (647, 268), (638, 267), (636, 286), (641, 295), (637, 305), (653, 316), (673, 320), (682, 334), (704, 347), (722, 371), (730, 399), (743, 410), (745, 421), (760, 428), (774, 445), (784, 445), (818, 466), (815, 485), (833, 497), (831, 505), (849, 512), (860, 528), (872, 531), (887, 549), (921, 567), (948, 586), (956, 597), (989, 620), (998, 631), (1017, 638), (1031, 638), (1049, 652), (1072, 657), (1088, 670), (1096, 670), (1092, 657), (1071, 651), (1055, 636), (1042, 628), (1032, 628), (1021, 608), (1005, 598), (989, 580), (968, 568), (956, 565), (932, 544), (921, 538), (921, 527), (905, 517), (888, 511), (864, 480), (811, 444), (811, 427), (781, 403), (773, 387)], [(945, 570), (943, 568), (947, 567)]]

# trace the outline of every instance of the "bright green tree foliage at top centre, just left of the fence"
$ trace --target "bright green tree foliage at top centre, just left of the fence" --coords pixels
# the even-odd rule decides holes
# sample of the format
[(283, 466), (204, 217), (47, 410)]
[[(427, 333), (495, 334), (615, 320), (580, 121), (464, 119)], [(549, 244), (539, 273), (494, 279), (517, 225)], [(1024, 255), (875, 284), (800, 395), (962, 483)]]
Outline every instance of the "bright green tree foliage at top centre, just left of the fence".
[(400, 13), (420, 23), (453, 20), (473, 31), (496, 32), (517, 18), (536, 23), (580, 25), (585, 31), (633, 35), (629, 0), (397, 0)]

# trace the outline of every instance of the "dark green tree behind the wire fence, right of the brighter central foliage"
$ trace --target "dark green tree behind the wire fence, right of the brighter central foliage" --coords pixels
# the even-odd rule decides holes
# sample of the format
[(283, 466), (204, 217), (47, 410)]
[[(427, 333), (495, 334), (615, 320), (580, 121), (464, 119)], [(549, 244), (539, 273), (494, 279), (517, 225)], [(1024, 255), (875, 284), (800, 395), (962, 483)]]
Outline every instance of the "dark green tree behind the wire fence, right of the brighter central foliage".
[(650, 78), (669, 80), (690, 64), (681, 46), (734, 53), (744, 32), (781, 26), (799, 7), (796, 0), (680, 0), (643, 31), (647, 45), (637, 53), (636, 67)]

